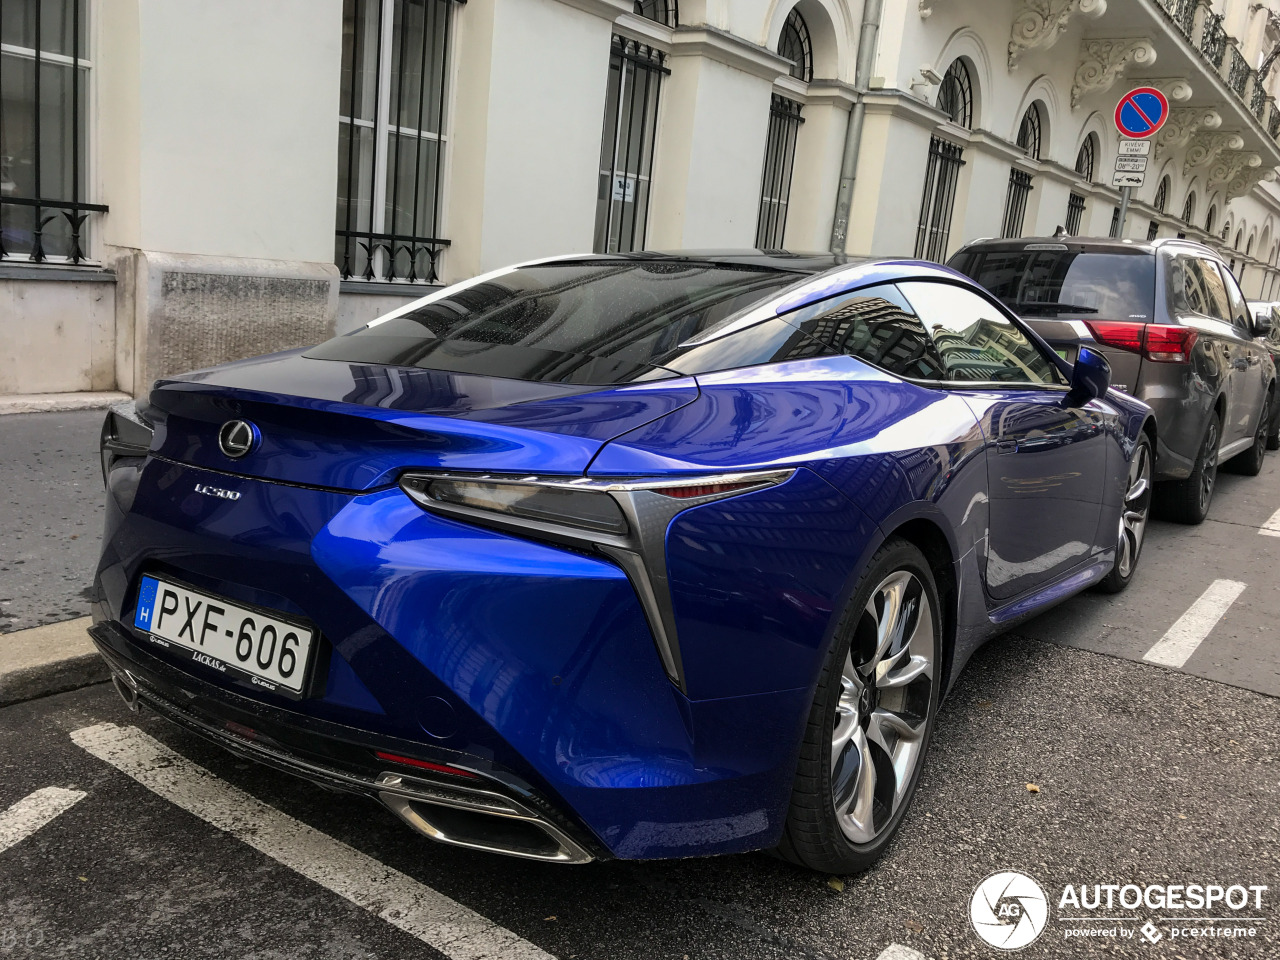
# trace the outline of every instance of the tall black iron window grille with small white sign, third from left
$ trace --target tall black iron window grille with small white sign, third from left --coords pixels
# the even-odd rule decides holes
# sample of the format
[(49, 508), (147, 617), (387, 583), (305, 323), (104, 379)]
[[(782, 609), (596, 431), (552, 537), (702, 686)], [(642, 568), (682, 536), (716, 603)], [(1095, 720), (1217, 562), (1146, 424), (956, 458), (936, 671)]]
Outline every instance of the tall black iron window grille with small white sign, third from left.
[(660, 50), (614, 35), (595, 205), (598, 253), (644, 250), (658, 133), (658, 93), (668, 73)]

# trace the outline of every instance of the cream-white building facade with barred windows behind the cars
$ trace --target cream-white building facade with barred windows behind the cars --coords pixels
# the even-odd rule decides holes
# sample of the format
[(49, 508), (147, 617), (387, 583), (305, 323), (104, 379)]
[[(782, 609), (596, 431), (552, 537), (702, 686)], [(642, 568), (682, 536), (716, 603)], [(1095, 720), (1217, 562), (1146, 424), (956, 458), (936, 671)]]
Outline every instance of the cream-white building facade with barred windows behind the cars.
[(1277, 45), (1280, 0), (3, 0), (0, 393), (566, 252), (1108, 236), (1139, 84), (1171, 119), (1124, 236), (1280, 297)]

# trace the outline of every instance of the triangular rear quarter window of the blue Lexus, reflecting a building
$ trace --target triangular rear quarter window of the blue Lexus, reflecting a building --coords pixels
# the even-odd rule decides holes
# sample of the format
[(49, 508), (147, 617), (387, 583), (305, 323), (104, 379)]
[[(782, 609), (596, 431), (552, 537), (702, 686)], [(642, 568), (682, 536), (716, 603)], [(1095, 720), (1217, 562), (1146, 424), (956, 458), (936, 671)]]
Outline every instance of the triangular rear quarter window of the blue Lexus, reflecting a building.
[(833, 352), (899, 376), (945, 380), (933, 339), (892, 284), (867, 287), (797, 310), (787, 320)]

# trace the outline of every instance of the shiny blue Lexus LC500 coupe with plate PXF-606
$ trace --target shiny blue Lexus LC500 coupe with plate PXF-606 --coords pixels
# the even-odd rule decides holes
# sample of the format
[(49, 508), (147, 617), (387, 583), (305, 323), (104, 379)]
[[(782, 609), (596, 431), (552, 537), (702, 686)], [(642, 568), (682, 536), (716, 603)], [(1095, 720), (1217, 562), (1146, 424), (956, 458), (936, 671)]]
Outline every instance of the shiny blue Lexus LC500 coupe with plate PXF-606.
[(104, 426), (131, 705), (460, 846), (867, 867), (974, 649), (1142, 550), (1149, 411), (946, 268), (577, 256)]

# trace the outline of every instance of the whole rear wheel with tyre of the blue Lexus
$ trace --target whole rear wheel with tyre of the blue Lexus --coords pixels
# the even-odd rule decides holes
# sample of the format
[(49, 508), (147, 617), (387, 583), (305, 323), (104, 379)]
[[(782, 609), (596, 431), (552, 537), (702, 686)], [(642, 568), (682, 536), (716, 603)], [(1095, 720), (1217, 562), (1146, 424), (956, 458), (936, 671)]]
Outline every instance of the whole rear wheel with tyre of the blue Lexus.
[(942, 620), (924, 556), (891, 539), (845, 608), (809, 712), (778, 854), (858, 873), (915, 794), (938, 707)]

